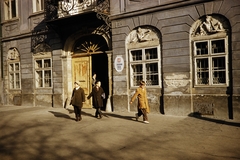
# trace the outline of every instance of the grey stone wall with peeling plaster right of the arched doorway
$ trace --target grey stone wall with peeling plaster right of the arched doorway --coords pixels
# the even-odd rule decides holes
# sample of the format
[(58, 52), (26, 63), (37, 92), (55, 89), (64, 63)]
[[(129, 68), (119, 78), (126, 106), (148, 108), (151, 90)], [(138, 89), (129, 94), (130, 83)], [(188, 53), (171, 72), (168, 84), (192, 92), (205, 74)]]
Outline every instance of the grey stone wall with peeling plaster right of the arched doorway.
[[(113, 59), (121, 55), (124, 58), (125, 66), (120, 73), (113, 70), (114, 109), (136, 111), (134, 107), (129, 105), (129, 99), (135, 89), (129, 86), (126, 37), (137, 27), (151, 26), (157, 28), (161, 35), (162, 61), (162, 87), (147, 89), (153, 111), (166, 115), (188, 115), (195, 110), (199, 111), (200, 108), (200, 110), (205, 109), (205, 112), (211, 110), (210, 116), (215, 118), (238, 119), (240, 113), (238, 100), (240, 68), (238, 66), (239, 48), (237, 47), (240, 33), (237, 20), (239, 11), (239, 1), (231, 1), (230, 3), (222, 0), (205, 3), (191, 1), (186, 5), (176, 3), (167, 9), (166, 6), (159, 6), (141, 11), (136, 9), (135, 12), (129, 13), (124, 11), (119, 11), (121, 12), (119, 14), (115, 13), (112, 16)], [(230, 86), (194, 86), (190, 30), (196, 21), (206, 15), (225, 17), (229, 21), (229, 35), (231, 37), (229, 54), (232, 63)], [(232, 90), (232, 93), (228, 90)]]

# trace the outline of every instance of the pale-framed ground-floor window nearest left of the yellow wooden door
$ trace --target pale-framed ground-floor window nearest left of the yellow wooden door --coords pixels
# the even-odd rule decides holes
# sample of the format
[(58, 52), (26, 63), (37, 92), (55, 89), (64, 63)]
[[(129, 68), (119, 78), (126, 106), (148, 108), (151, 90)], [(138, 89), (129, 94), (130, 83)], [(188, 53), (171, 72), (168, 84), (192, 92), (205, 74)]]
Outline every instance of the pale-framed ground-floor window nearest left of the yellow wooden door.
[(37, 88), (52, 87), (51, 59), (35, 60), (35, 80)]

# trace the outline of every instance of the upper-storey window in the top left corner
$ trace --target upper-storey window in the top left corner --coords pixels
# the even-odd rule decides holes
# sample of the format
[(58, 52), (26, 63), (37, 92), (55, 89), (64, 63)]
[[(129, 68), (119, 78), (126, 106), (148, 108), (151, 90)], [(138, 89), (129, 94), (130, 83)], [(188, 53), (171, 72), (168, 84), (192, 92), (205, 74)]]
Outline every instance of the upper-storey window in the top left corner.
[(16, 0), (4, 0), (3, 5), (4, 5), (5, 20), (9, 20), (17, 17), (17, 1)]

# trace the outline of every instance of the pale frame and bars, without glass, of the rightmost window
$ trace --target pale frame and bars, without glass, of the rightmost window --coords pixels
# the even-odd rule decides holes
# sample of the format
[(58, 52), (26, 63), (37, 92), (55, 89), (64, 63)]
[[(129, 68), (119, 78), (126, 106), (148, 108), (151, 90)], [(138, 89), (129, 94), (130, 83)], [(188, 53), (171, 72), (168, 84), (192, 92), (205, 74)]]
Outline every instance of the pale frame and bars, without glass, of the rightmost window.
[[(214, 51), (212, 51), (213, 50), (213, 47), (212, 47), (212, 43), (211, 42), (213, 42), (213, 41), (218, 41), (218, 40), (224, 40), (224, 43), (225, 43), (225, 50), (224, 50), (224, 52), (220, 52), (220, 53), (214, 53)], [(204, 43), (204, 42), (206, 42), (207, 43), (207, 53), (206, 54), (198, 54), (198, 52), (199, 52), (199, 50), (197, 49), (197, 47), (196, 47), (196, 44), (197, 43)], [(195, 74), (194, 74), (194, 77), (195, 77), (195, 81), (194, 81), (194, 85), (196, 86), (196, 87), (202, 87), (202, 86), (212, 86), (212, 87), (216, 87), (216, 86), (228, 86), (229, 85), (229, 66), (228, 66), (228, 64), (229, 64), (229, 60), (228, 60), (228, 54), (229, 54), (229, 51), (228, 51), (228, 36), (226, 36), (226, 37), (222, 37), (222, 38), (209, 38), (209, 39), (205, 39), (205, 40), (195, 40), (194, 42), (193, 42), (193, 47), (194, 47), (194, 56), (193, 56), (193, 58), (194, 58), (194, 72), (195, 72)], [(225, 66), (224, 67), (221, 67), (221, 64), (218, 64), (218, 66), (216, 67), (214, 67), (213, 66), (213, 64), (214, 64), (214, 62), (213, 62), (213, 59), (220, 59), (220, 58), (224, 58), (224, 60), (225, 60)], [(197, 61), (199, 61), (199, 60), (204, 60), (204, 59), (206, 59), (207, 61), (207, 63), (208, 63), (208, 66), (207, 66), (207, 68), (205, 67), (205, 69), (204, 69), (204, 67), (202, 68), (202, 69), (200, 69), (199, 67), (198, 67), (198, 65), (199, 65), (199, 63), (197, 63)], [(216, 69), (216, 70), (218, 70), (218, 71), (215, 71), (214, 70), (214, 68)], [(221, 68), (221, 69), (220, 69)], [(220, 70), (220, 71), (219, 71)], [(202, 83), (200, 84), (199, 82), (198, 82), (198, 80), (199, 80), (199, 74), (200, 74), (200, 72), (205, 72), (205, 73), (208, 73), (208, 80), (207, 81), (205, 81), (204, 82), (204, 80), (202, 80)], [(214, 72), (215, 71), (215, 72)], [(217, 78), (217, 76), (216, 76), (216, 78), (215, 78), (215, 80), (214, 80), (214, 73), (217, 73), (217, 74), (219, 74), (220, 72), (225, 72), (225, 82), (224, 83), (221, 83), (219, 80), (216, 80), (216, 78)]]

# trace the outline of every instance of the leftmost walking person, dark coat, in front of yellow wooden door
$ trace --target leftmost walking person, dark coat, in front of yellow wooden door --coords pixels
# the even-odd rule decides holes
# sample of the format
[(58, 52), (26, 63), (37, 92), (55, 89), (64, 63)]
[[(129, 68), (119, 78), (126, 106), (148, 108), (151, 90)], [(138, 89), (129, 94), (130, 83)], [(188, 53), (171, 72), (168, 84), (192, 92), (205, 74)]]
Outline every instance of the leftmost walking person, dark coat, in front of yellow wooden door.
[(83, 103), (85, 102), (85, 93), (84, 93), (84, 90), (80, 87), (79, 81), (74, 82), (74, 85), (75, 85), (75, 88), (73, 89), (73, 92), (72, 92), (70, 105), (74, 107), (76, 121), (78, 122), (82, 120), (81, 112), (82, 112)]

